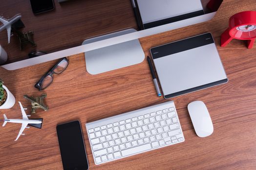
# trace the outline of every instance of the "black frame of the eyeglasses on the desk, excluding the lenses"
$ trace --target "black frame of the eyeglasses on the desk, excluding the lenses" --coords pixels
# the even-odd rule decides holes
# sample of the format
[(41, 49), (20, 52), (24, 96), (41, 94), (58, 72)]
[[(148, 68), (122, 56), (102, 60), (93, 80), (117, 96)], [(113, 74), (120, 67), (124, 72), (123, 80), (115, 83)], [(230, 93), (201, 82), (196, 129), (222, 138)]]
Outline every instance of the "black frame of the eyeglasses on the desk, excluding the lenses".
[[(49, 69), (49, 71), (47, 71), (47, 72), (43, 75), (43, 77), (35, 84), (35, 87), (38, 88), (39, 91), (40, 91), (40, 90), (43, 90), (43, 89), (47, 88), (49, 85), (51, 85), (51, 83), (53, 82), (53, 76), (52, 76), (53, 74), (61, 74), (61, 73), (64, 72), (64, 70), (65, 70), (66, 68), (65, 68), (62, 72), (60, 72), (60, 73), (54, 72), (54, 69), (57, 68), (58, 65), (59, 65), (62, 61), (64, 61), (64, 60), (67, 62), (67, 65), (66, 65), (66, 68), (67, 68), (67, 66), (68, 66), (68, 64), (69, 64), (69, 63), (68, 63), (68, 59), (67, 59), (66, 57), (64, 57), (64, 58), (62, 58), (57, 64), (55, 64), (51, 69)], [(49, 76), (49, 75), (52, 77), (51, 83), (49, 83), (49, 85), (47, 85), (46, 87), (41, 88), (41, 85), (42, 85), (42, 83), (43, 83), (44, 78), (47, 77), (47, 76)]]

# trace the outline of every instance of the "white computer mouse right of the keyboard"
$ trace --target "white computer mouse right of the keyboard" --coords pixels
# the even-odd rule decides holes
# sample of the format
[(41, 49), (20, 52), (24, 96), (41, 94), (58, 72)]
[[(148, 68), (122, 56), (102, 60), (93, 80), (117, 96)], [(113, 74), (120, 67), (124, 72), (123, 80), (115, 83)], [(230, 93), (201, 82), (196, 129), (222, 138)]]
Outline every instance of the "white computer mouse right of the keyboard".
[(213, 133), (213, 122), (204, 102), (189, 103), (188, 110), (197, 136), (206, 137)]

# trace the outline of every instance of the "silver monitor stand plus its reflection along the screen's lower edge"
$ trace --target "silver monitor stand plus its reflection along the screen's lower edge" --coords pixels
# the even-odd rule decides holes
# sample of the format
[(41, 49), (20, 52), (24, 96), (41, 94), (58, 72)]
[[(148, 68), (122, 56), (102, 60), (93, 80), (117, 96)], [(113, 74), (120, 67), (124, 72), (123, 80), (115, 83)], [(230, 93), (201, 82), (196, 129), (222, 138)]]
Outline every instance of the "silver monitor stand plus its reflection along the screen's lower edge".
[[(133, 32), (136, 30), (128, 29), (97, 36), (86, 39), (82, 45)], [(139, 64), (144, 58), (145, 53), (138, 39), (85, 52), (86, 70), (93, 75)]]

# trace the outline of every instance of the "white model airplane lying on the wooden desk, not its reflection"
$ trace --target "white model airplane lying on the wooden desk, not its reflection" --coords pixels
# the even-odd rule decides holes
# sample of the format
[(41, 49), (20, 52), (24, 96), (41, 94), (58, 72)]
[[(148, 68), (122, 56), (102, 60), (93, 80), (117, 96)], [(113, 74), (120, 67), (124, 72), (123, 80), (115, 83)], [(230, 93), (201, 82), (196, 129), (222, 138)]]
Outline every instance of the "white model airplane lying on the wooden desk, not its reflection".
[(18, 140), (18, 138), (19, 138), (21, 135), (24, 135), (24, 134), (22, 134), (22, 132), (24, 131), (25, 128), (29, 128), (29, 127), (27, 127), (28, 124), (40, 124), (40, 123), (42, 123), (42, 121), (40, 121), (40, 120), (30, 120), (30, 119), (28, 119), (28, 118), (27, 118), (27, 115), (26, 115), (26, 113), (25, 113), (25, 111), (24, 111), (24, 108), (23, 108), (23, 106), (21, 105), (21, 102), (19, 102), (19, 103), (20, 103), (20, 106), (21, 106), (22, 119), (7, 119), (6, 115), (3, 114), (3, 117), (4, 117), (4, 120), (3, 120), (3, 121), (4, 121), (4, 122), (3, 122), (3, 125), (2, 125), (2, 126), (5, 126), (5, 124), (6, 124), (7, 122), (10, 122), (10, 123), (22, 123), (22, 124), (21, 124), (21, 130), (20, 130), (20, 132), (19, 132), (17, 138), (15, 139), (15, 141)]

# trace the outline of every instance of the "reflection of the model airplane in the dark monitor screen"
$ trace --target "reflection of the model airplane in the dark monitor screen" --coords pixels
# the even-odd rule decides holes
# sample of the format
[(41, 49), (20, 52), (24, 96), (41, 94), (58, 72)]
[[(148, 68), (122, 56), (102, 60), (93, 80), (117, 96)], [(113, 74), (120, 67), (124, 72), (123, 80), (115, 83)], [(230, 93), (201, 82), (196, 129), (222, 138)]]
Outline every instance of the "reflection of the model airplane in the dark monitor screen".
[(10, 19), (5, 19), (4, 17), (0, 17), (0, 21), (3, 23), (3, 25), (0, 26), (0, 32), (3, 31), (4, 29), (7, 30), (8, 43), (10, 43), (12, 24), (18, 21), (20, 18), (21, 18), (21, 14), (17, 14)]

